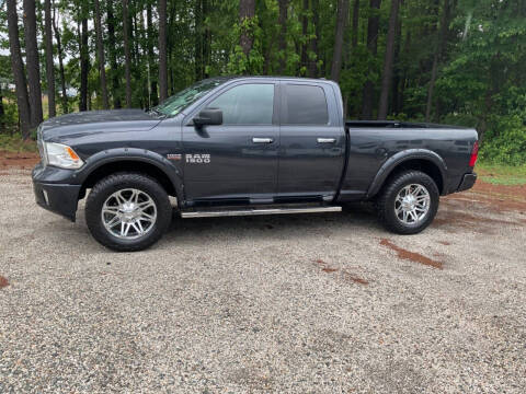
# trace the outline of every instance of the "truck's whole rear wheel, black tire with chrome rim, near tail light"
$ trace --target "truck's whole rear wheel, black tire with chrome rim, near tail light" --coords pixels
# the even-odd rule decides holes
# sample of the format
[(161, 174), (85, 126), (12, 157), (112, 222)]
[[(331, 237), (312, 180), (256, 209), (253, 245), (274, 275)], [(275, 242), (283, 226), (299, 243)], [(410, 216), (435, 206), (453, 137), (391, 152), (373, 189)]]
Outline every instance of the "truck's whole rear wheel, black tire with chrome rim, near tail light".
[(416, 234), (436, 216), (439, 192), (431, 176), (420, 171), (393, 175), (377, 199), (385, 228), (397, 234)]

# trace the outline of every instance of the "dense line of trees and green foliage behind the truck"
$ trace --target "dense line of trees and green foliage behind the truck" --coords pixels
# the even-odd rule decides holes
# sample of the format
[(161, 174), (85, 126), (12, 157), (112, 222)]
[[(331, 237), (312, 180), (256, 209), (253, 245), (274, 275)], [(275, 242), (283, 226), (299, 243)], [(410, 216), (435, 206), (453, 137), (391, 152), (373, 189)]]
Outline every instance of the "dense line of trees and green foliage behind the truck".
[(347, 117), (477, 127), (483, 155), (526, 159), (526, 0), (0, 4), (0, 127), (24, 138), (57, 114), (149, 108), (204, 78), (279, 74), (340, 82)]

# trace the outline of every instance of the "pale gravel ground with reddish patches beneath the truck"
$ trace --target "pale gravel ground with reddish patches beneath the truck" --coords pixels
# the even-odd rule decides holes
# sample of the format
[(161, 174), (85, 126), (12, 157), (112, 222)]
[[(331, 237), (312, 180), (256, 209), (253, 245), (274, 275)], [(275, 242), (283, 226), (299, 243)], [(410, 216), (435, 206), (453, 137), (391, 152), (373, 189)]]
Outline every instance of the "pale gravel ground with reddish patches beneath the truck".
[(174, 218), (115, 254), (27, 171), (0, 196), (0, 393), (526, 392), (524, 211), (461, 194), (414, 236), (363, 208)]

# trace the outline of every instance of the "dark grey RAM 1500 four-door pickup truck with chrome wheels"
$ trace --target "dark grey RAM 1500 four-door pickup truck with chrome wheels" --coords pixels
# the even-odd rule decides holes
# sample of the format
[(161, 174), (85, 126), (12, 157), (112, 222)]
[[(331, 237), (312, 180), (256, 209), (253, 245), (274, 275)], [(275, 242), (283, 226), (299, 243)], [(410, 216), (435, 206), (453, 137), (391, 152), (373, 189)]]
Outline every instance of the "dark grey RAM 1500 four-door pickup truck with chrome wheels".
[(96, 241), (139, 251), (182, 218), (333, 212), (376, 202), (387, 229), (414, 234), (439, 196), (477, 175), (477, 131), (345, 121), (336, 83), (270, 77), (201, 81), (146, 113), (96, 111), (38, 127), (39, 206), (85, 221)]

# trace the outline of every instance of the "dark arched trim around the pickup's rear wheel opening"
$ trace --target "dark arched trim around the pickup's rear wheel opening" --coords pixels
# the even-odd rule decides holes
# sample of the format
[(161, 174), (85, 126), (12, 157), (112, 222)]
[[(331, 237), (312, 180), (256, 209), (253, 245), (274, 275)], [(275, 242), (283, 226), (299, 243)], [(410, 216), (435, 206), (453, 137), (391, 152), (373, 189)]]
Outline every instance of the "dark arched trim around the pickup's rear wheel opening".
[(442, 195), (445, 190), (447, 165), (435, 152), (425, 149), (412, 149), (389, 158), (376, 174), (367, 190), (367, 198), (375, 197), (390, 177), (407, 170), (418, 170), (431, 176)]

